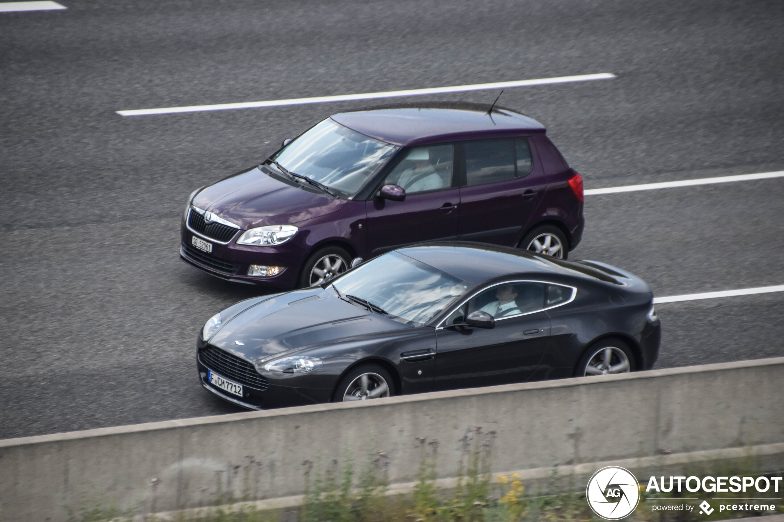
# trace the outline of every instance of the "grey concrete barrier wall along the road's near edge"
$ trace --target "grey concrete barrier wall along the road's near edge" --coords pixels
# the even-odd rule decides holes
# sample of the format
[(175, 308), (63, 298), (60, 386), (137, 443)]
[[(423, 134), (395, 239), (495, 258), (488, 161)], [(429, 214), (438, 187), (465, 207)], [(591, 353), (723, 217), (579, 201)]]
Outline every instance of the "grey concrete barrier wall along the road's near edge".
[(433, 441), (439, 477), (454, 477), (480, 438), (492, 440), (496, 471), (780, 448), (782, 405), (784, 358), (770, 358), (7, 439), (0, 517), (59, 522), (93, 501), (140, 513), (301, 495), (310, 467), (347, 455), (361, 467), (379, 452), (390, 482), (406, 483)]

